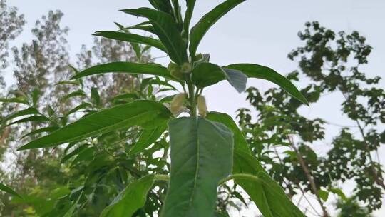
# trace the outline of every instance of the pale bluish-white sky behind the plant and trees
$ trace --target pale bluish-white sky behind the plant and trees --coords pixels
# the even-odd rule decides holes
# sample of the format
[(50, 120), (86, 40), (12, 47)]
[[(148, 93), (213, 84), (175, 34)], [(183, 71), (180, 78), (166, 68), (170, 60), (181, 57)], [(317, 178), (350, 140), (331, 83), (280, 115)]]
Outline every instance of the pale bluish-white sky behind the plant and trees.
[[(197, 0), (192, 24), (220, 2), (222, 1)], [(48, 10), (63, 11), (63, 25), (70, 28), (68, 43), (73, 56), (79, 51), (81, 44), (91, 46), (93, 32), (116, 30), (114, 21), (126, 26), (142, 21), (118, 10), (149, 6), (148, 1), (143, 0), (8, 0), (8, 4), (17, 6), (19, 11), (25, 14), (28, 21), (25, 29), (31, 29), (34, 21)], [(369, 64), (362, 67), (362, 71), (369, 76), (381, 76), (385, 79), (384, 0), (247, 0), (207, 32), (198, 51), (210, 53), (211, 61), (219, 65), (254, 63), (270, 66), (281, 74), (287, 74), (297, 69), (297, 63), (287, 59), (287, 54), (297, 46), (302, 46), (297, 32), (304, 29), (306, 21), (319, 21), (334, 31), (359, 31), (366, 37), (367, 43), (374, 47), (369, 56)], [(30, 39), (29, 31), (24, 31), (16, 43)], [(164, 56), (161, 51), (155, 49), (152, 55)], [(160, 58), (157, 61), (160, 64), (168, 64), (169, 60)], [(6, 74), (6, 81), (13, 81), (11, 74)], [(305, 85), (306, 79), (297, 83), (299, 87)], [(248, 82), (248, 86), (256, 86), (263, 91), (273, 85), (268, 81), (252, 80)], [(381, 86), (385, 86), (384, 81)], [(207, 98), (210, 111), (235, 116), (237, 109), (250, 107), (245, 101), (245, 94), (238, 94), (223, 81), (206, 89), (203, 94)], [(310, 118), (319, 117), (330, 123), (349, 126), (351, 123), (339, 111), (341, 101), (340, 94), (330, 94), (317, 104), (303, 106), (301, 112)], [(329, 138), (335, 136), (338, 131), (337, 126), (327, 126)], [(325, 153), (327, 146), (319, 145), (315, 149)], [(382, 148), (380, 156), (384, 154), (385, 149)], [(385, 163), (384, 159), (381, 162)], [(375, 215), (385, 216), (385, 209)]]

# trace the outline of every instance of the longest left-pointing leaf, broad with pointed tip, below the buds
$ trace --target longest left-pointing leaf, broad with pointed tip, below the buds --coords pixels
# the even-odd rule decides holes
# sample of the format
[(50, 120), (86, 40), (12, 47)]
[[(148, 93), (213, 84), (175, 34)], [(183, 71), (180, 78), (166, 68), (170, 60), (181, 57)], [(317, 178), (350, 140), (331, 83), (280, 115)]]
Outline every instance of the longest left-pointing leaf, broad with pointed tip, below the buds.
[(48, 136), (21, 146), (19, 150), (58, 146), (129, 126), (155, 128), (164, 124), (170, 116), (170, 111), (155, 101), (133, 101), (85, 116)]

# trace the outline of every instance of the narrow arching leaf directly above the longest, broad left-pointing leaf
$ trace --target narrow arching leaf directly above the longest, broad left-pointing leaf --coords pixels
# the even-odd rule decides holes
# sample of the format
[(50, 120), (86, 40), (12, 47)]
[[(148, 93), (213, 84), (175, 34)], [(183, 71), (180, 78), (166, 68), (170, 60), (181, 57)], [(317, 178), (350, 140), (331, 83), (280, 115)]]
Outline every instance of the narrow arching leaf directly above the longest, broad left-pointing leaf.
[(171, 76), (168, 69), (163, 66), (160, 66), (158, 64), (137, 64), (130, 62), (112, 62), (108, 64), (92, 66), (91, 68), (79, 72), (71, 79), (80, 79), (85, 76), (110, 72), (127, 74), (148, 74), (153, 76), (162, 76), (166, 79), (175, 81), (175, 78)]

